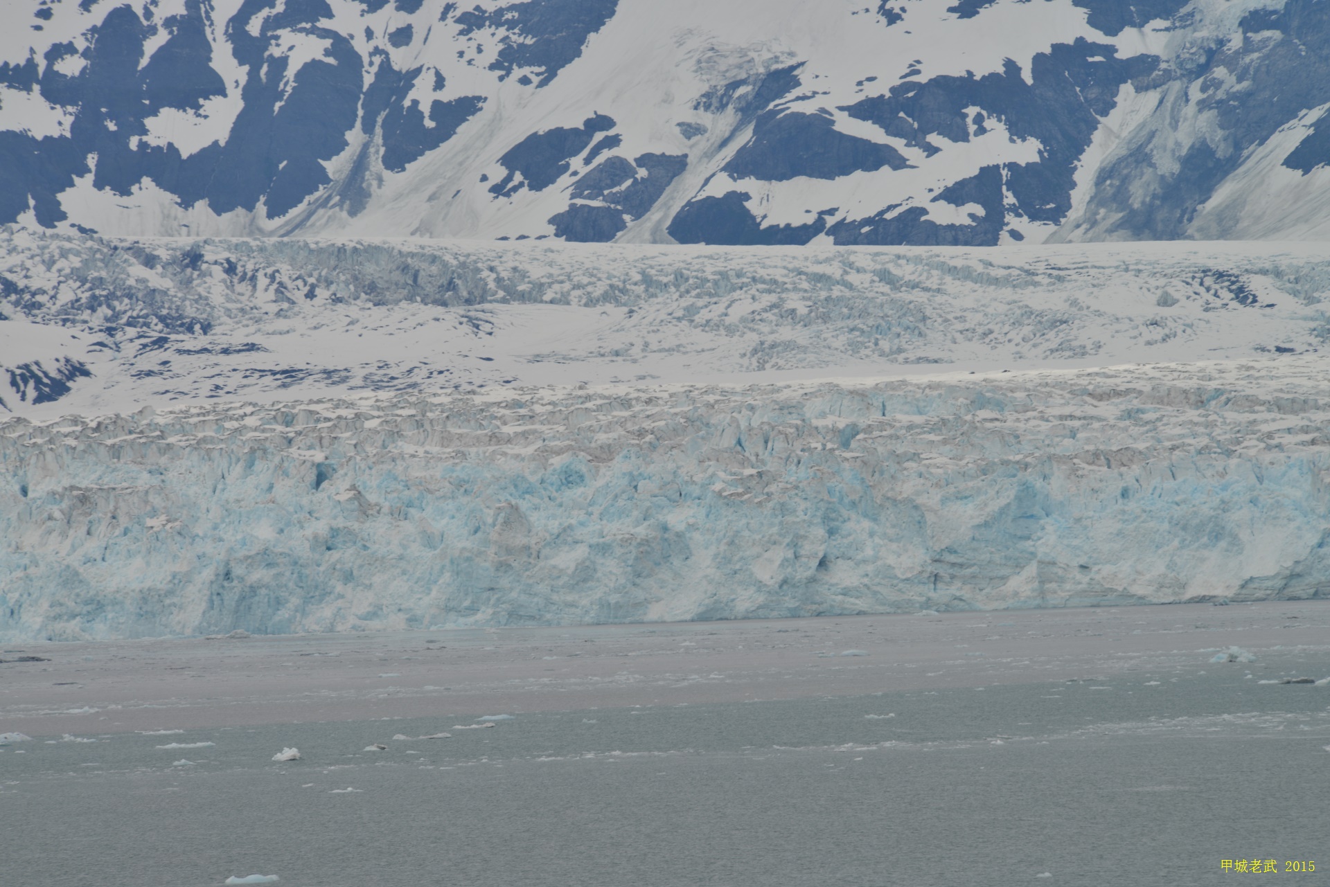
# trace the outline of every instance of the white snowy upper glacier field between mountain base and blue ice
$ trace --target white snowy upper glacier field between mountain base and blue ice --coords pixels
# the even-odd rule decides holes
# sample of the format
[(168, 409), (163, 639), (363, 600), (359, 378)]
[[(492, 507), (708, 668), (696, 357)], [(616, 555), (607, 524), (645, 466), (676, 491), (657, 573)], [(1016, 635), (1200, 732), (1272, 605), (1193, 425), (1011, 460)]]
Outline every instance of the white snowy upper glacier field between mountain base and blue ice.
[(1311, 354), (1317, 246), (955, 250), (0, 233), (0, 415)]

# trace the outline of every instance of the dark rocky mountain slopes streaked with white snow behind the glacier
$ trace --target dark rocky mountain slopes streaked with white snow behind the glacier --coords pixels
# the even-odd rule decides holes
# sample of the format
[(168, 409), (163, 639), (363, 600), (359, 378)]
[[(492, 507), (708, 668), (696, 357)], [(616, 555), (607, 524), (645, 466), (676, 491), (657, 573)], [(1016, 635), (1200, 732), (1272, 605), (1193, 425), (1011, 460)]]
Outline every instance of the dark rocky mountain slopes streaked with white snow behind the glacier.
[(1330, 237), (1325, 0), (12, 0), (0, 223)]

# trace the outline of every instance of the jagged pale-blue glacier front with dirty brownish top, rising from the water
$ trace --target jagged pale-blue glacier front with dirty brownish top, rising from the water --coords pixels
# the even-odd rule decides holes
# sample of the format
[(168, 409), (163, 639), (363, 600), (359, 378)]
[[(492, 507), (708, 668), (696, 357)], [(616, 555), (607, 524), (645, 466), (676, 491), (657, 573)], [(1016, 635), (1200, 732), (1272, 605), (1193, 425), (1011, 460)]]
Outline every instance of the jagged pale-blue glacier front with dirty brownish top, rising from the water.
[(0, 423), (0, 638), (1330, 593), (1325, 358)]

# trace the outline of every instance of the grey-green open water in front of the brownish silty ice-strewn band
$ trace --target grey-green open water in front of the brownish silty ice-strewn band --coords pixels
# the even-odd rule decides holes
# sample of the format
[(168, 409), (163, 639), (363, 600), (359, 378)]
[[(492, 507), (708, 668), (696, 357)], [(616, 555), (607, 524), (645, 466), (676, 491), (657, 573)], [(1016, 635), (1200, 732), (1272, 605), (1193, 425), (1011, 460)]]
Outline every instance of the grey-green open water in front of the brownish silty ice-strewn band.
[(1210, 672), (35, 737), (0, 750), (0, 886), (1327, 883), (1330, 690)]

